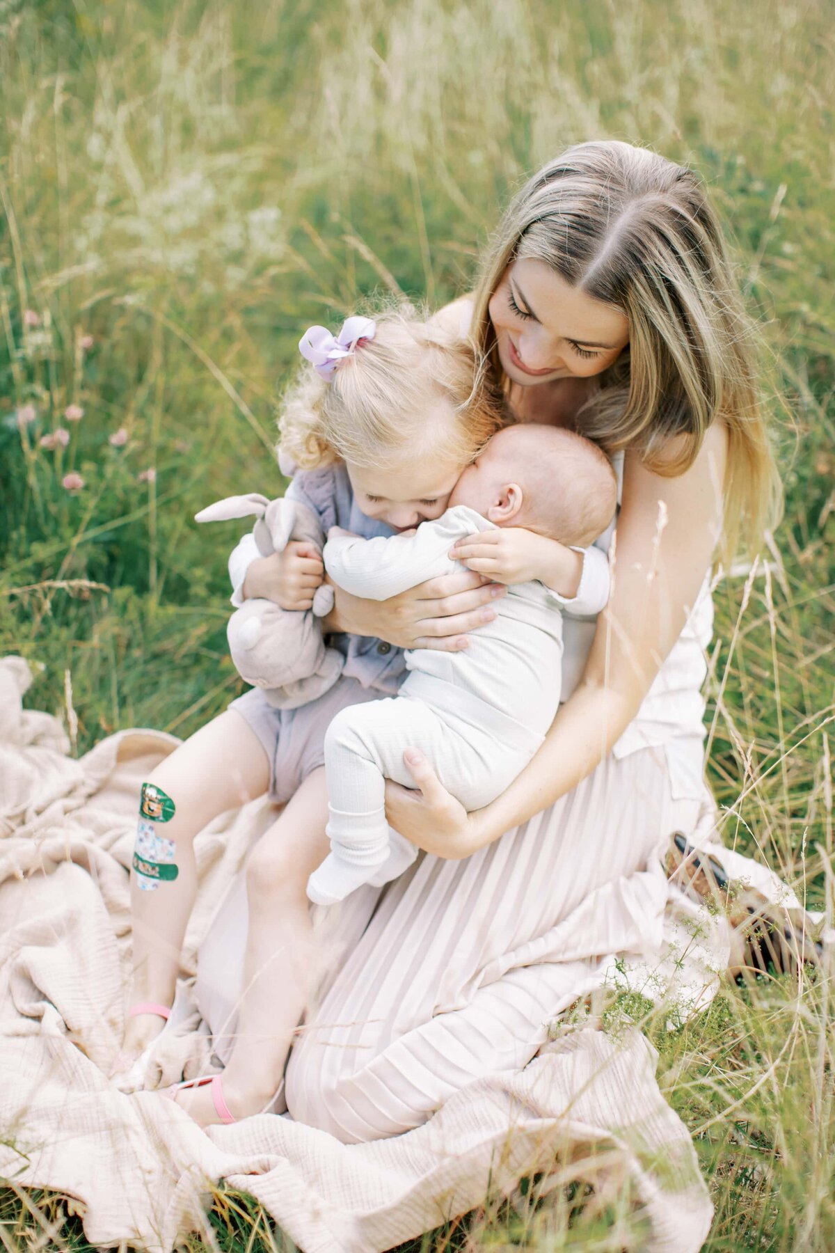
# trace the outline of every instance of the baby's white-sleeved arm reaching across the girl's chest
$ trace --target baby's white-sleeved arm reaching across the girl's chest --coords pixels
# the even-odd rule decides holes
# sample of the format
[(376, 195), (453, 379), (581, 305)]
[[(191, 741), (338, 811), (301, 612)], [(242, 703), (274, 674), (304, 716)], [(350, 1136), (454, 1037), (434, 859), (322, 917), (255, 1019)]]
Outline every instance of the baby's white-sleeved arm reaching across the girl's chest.
[(449, 574), (449, 549), (481, 521), (473, 510), (458, 506), (408, 535), (363, 540), (334, 534), (324, 546), (324, 565), (333, 581), (353, 596), (388, 600), (426, 579)]

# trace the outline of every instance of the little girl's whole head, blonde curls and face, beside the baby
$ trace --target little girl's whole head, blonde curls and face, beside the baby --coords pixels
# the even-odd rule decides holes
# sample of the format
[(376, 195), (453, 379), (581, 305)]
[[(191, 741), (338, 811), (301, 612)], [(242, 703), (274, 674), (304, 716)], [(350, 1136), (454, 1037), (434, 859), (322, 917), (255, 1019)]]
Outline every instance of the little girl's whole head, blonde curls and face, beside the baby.
[(506, 421), (491, 377), (471, 342), (411, 309), (387, 311), (336, 366), (303, 367), (284, 401), (280, 450), (300, 469), (344, 461), (359, 509), (408, 530), (441, 516)]

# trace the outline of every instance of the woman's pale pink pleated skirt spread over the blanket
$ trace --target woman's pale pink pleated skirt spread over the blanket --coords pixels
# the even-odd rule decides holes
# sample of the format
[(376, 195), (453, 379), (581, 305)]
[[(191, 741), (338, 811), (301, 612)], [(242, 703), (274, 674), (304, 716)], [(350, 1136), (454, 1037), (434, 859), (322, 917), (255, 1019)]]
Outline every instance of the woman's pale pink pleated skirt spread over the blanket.
[(657, 855), (697, 809), (646, 749), (607, 758), (466, 861), (419, 858), (308, 1015), (287, 1071), (293, 1116), (344, 1139), (393, 1134), (446, 1099), (456, 1069), (464, 1081), (530, 1060), (601, 957), (660, 944)]

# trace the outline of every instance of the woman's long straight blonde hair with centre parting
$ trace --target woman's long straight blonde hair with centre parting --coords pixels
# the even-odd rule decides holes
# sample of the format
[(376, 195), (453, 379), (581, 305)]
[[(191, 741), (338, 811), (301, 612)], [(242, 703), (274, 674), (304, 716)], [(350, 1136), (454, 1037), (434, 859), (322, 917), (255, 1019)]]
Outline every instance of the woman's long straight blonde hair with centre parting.
[(577, 429), (682, 474), (719, 417), (729, 431), (724, 555), (757, 545), (780, 511), (760, 405), (756, 337), (719, 218), (699, 177), (616, 140), (568, 148), (521, 189), (484, 261), (472, 335), (503, 372), (489, 299), (507, 267), (545, 262), (626, 315), (630, 345), (595, 378)]

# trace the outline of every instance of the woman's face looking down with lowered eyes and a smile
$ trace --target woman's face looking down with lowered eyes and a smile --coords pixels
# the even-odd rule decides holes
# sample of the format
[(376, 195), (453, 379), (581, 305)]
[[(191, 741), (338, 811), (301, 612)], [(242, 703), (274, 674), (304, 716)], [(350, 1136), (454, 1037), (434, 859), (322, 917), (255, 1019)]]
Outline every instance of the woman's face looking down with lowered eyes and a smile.
[(522, 387), (600, 375), (630, 340), (620, 309), (530, 258), (507, 267), (491, 297), (489, 317), (502, 368)]

